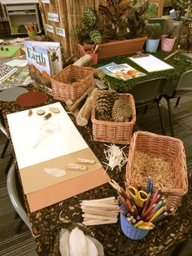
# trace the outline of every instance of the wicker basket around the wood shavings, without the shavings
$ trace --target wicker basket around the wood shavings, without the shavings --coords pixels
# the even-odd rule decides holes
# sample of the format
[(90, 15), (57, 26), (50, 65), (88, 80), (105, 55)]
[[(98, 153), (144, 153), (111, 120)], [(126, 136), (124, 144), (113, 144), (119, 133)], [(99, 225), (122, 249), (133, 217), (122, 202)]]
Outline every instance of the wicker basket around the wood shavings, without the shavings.
[[(152, 157), (159, 157), (170, 164), (174, 174), (175, 188), (162, 188), (161, 192), (167, 199), (168, 208), (177, 209), (181, 205), (182, 196), (188, 192), (185, 149), (181, 140), (164, 135), (155, 135), (147, 131), (135, 132), (130, 143), (129, 160), (126, 167), (128, 183), (135, 180), (133, 164), (136, 151), (146, 152)], [(152, 179), (155, 182), (153, 176)], [(140, 182), (142, 187), (146, 186), (146, 180), (137, 180), (137, 182)], [(154, 186), (153, 192), (156, 189), (157, 187)]]

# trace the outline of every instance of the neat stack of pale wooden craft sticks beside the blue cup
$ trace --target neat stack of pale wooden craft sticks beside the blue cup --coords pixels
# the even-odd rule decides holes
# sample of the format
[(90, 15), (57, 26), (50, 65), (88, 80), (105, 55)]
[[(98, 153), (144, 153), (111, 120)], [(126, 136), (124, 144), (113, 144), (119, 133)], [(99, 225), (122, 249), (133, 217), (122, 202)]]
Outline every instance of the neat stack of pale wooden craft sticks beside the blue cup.
[(119, 213), (118, 201), (115, 196), (81, 201), (83, 224), (101, 225), (117, 222), (117, 215)]

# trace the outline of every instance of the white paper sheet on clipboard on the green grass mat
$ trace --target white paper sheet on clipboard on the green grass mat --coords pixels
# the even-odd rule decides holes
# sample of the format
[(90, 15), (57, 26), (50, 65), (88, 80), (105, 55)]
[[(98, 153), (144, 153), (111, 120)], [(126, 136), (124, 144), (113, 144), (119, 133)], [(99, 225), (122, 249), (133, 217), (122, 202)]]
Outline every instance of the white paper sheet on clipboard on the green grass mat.
[(155, 72), (173, 68), (171, 65), (165, 63), (163, 60), (159, 60), (153, 55), (140, 58), (129, 57), (129, 59), (144, 68), (147, 72)]

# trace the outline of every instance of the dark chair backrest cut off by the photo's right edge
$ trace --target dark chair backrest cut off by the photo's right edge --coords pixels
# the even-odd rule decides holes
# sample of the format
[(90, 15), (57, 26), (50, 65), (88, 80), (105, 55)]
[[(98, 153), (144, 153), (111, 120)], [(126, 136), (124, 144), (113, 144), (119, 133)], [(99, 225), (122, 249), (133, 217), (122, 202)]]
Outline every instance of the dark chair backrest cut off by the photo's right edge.
[(188, 70), (181, 75), (174, 93), (177, 97), (190, 94), (192, 94), (192, 70)]

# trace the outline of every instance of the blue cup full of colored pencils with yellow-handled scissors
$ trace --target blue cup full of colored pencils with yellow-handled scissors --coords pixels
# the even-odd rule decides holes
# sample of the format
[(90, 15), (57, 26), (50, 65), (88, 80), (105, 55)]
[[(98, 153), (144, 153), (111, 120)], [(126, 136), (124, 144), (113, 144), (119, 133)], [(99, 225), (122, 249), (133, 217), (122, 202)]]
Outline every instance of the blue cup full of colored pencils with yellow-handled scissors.
[(163, 221), (175, 210), (167, 209), (166, 199), (158, 188), (152, 196), (153, 183), (148, 178), (146, 188), (133, 182), (127, 191), (112, 180), (111, 186), (116, 188), (120, 202), (120, 227), (125, 236), (133, 240), (144, 238), (159, 221)]

